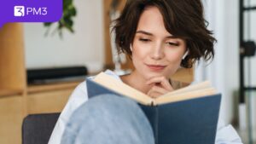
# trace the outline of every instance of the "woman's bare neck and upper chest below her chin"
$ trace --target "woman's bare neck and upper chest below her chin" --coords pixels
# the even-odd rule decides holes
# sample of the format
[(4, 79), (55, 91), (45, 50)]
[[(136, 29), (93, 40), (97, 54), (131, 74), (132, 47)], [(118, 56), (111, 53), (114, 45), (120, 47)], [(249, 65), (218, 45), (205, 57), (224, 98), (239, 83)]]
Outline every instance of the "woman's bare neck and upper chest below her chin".
[(130, 85), (132, 88), (137, 89), (144, 94), (148, 93), (148, 90), (151, 88), (150, 85), (146, 84), (147, 79), (143, 78), (136, 71), (131, 72), (129, 75), (120, 77), (125, 84)]

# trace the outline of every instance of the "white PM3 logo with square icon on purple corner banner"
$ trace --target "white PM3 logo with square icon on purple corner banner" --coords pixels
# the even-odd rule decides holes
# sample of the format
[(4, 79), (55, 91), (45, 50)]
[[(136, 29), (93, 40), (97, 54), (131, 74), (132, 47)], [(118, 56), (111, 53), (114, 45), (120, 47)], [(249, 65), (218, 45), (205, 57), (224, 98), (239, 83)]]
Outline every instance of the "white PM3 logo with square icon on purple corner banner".
[(15, 6), (15, 16), (20, 17), (20, 16), (25, 16), (26, 15), (47, 15), (47, 8), (31, 8), (27, 7), (25, 8), (24, 6)]

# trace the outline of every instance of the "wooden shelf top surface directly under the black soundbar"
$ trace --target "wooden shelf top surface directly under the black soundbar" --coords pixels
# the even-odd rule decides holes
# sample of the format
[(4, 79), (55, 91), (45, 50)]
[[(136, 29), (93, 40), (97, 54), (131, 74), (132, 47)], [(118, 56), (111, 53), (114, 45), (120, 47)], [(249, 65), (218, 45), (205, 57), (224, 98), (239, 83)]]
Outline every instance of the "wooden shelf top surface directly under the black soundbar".
[(67, 83), (57, 83), (57, 84), (34, 84), (34, 85), (28, 85), (27, 93), (38, 93), (38, 92), (44, 92), (44, 91), (52, 91), (52, 90), (58, 90), (58, 89), (73, 89), (77, 85), (79, 85), (83, 80), (77, 81), (77, 82), (67, 82)]

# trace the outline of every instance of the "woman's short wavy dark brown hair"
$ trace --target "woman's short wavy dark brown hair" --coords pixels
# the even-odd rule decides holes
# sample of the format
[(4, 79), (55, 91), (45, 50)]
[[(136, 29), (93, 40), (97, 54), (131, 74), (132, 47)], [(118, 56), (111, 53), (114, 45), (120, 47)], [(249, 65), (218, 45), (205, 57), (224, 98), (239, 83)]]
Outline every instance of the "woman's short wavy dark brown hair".
[(212, 31), (207, 30), (208, 22), (204, 19), (201, 0), (127, 0), (113, 26), (119, 52), (131, 57), (130, 45), (138, 21), (143, 10), (150, 6), (160, 10), (167, 32), (185, 40), (189, 55), (182, 60), (181, 66), (190, 68), (201, 57), (204, 60), (213, 59), (216, 39), (212, 37)]

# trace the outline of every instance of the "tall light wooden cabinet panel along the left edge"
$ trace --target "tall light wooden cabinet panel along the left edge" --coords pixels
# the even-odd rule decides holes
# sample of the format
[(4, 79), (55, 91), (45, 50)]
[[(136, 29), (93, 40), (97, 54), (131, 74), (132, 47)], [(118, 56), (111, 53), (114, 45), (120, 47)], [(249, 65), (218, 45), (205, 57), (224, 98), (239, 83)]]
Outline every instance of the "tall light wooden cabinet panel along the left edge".
[(7, 24), (0, 30), (0, 143), (21, 142), (25, 95), (23, 27), (19, 23)]

